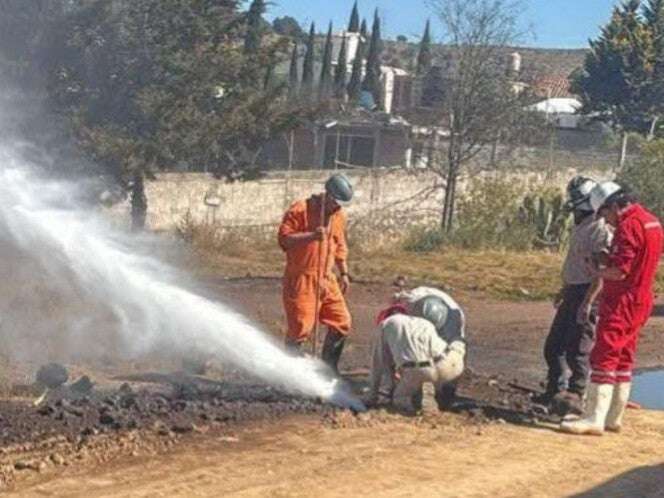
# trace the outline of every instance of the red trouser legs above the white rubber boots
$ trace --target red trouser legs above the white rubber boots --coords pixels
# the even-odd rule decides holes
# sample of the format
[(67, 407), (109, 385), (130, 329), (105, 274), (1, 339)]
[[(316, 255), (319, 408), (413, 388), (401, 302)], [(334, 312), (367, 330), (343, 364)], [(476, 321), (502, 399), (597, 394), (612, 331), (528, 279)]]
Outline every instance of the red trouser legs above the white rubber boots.
[(652, 313), (652, 296), (621, 294), (602, 298), (597, 342), (590, 355), (591, 380), (597, 384), (632, 381), (641, 328)]

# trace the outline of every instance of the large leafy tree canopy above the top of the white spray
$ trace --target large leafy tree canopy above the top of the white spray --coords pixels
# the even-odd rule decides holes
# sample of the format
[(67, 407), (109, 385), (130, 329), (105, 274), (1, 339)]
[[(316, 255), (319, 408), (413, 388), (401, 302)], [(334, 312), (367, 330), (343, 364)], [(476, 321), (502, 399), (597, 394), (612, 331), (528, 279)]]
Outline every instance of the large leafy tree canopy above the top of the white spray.
[(251, 176), (262, 143), (294, 119), (283, 85), (256, 85), (288, 51), (263, 41), (263, 12), (260, 0), (248, 13), (234, 0), (78, 0), (54, 106), (118, 174), (187, 166)]

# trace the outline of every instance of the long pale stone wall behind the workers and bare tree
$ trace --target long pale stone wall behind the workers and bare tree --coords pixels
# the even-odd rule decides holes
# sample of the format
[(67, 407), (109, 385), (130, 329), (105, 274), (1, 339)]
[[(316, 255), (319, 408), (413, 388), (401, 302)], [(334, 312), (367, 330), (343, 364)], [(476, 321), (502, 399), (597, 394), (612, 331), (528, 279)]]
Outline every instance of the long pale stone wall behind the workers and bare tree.
[[(522, 184), (524, 193), (542, 184), (564, 188), (575, 174), (575, 170), (500, 173)], [(606, 176), (584, 174), (598, 179)], [(190, 217), (195, 223), (214, 223), (223, 230), (273, 236), (284, 210), (294, 200), (322, 191), (328, 175), (325, 171), (298, 171), (292, 176), (275, 173), (258, 181), (227, 183), (202, 173), (160, 174), (146, 182), (147, 223), (155, 231), (172, 231)], [(350, 228), (370, 234), (376, 243), (403, 235), (413, 226), (436, 223), (440, 217), (442, 191), (435, 188), (439, 179), (430, 173), (368, 169), (348, 175), (356, 192), (348, 208)], [(460, 189), (466, 185), (467, 179)], [(128, 223), (128, 201), (110, 211)]]

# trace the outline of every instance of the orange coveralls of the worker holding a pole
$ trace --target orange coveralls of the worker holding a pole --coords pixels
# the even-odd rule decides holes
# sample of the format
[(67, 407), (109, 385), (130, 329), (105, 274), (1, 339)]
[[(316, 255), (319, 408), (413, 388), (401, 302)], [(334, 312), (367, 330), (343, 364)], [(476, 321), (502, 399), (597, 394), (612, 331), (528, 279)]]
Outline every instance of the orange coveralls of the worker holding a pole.
[(298, 343), (309, 339), (315, 325), (318, 281), (316, 271), (319, 268), (319, 322), (342, 335), (348, 335), (351, 327), (346, 301), (337, 278), (332, 273), (335, 263), (345, 263), (348, 257), (346, 215), (343, 211), (338, 209), (327, 218), (326, 236), (322, 242), (312, 241), (290, 249), (284, 246), (287, 236), (313, 232), (320, 227), (320, 205), (321, 196), (295, 202), (284, 215), (279, 227), (279, 245), (286, 252), (283, 299), (288, 321), (287, 338)]

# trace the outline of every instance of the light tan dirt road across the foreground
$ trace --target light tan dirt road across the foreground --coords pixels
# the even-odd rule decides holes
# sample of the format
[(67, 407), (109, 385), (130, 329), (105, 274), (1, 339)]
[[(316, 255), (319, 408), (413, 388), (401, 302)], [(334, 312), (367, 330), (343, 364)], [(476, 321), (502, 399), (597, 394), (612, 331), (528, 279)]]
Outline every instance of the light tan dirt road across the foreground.
[(289, 420), (237, 440), (199, 436), (168, 455), (88, 468), (8, 496), (664, 495), (661, 415), (631, 412), (626, 432), (601, 438), (478, 426), (458, 415), (386, 417), (347, 427)]

